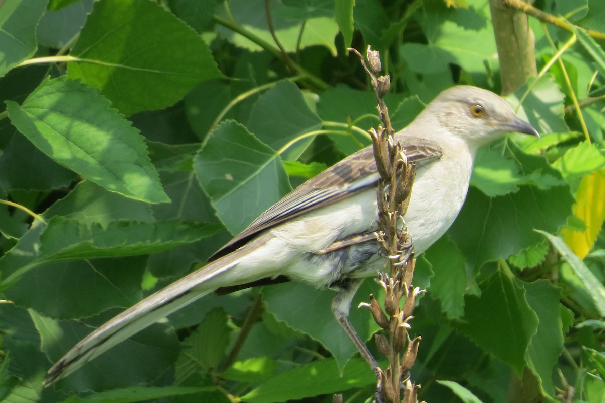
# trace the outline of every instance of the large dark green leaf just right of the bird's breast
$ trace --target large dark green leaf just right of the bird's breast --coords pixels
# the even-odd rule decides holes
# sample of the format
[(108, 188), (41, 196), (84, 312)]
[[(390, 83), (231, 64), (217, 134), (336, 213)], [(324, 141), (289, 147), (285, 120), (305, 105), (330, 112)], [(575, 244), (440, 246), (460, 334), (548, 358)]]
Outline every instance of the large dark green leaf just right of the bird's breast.
[(516, 193), (488, 198), (471, 187), (450, 236), (478, 272), (483, 263), (505, 259), (540, 243), (532, 230), (555, 232), (566, 222), (574, 198), (567, 186), (540, 190), (523, 186)]

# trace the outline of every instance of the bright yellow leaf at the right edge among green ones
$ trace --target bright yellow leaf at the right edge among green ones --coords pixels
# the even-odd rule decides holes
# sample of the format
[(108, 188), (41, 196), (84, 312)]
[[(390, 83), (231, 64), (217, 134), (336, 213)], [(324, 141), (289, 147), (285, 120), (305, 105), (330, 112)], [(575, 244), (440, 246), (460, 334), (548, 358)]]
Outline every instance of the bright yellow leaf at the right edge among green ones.
[(605, 170), (584, 176), (575, 195), (574, 216), (586, 222), (584, 231), (563, 228), (563, 240), (580, 259), (589, 253), (605, 220)]

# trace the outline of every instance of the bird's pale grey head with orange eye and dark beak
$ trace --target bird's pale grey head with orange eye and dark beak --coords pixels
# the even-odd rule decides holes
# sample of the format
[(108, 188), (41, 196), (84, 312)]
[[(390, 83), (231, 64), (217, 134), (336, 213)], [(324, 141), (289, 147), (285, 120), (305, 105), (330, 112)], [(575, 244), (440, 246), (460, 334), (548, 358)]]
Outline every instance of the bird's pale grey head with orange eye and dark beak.
[(431, 102), (430, 114), (437, 116), (448, 134), (478, 148), (508, 132), (540, 137), (531, 124), (517, 118), (511, 106), (499, 95), (470, 85), (459, 85), (441, 92)]

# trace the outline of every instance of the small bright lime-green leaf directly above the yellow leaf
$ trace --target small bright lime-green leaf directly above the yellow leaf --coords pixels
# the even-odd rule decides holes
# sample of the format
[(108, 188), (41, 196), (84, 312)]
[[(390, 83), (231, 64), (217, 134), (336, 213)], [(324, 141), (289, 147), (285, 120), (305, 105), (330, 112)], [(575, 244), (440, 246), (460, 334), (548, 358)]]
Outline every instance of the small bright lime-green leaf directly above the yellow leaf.
[(605, 167), (605, 155), (600, 147), (583, 141), (567, 150), (561, 158), (552, 164), (560, 170), (567, 180), (592, 173)]

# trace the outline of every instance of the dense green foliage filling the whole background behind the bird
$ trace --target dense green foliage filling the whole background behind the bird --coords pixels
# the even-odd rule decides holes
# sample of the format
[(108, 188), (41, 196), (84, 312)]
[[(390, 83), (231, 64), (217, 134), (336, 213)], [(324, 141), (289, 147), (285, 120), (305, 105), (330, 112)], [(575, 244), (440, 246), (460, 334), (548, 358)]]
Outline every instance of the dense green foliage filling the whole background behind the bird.
[[(538, 77), (507, 99), (543, 137), (481, 150), (419, 258), (412, 377), (430, 403), (605, 399), (605, 51), (583, 30), (605, 32), (605, 3), (535, 6), (581, 28), (530, 18)], [(208, 295), (42, 387), (91, 329), (370, 144), (346, 50), (367, 45), (396, 128), (448, 86), (501, 86), (488, 0), (0, 1), (0, 400), (369, 399), (333, 292), (298, 283)], [(355, 307), (376, 288), (352, 309), (372, 350)]]

